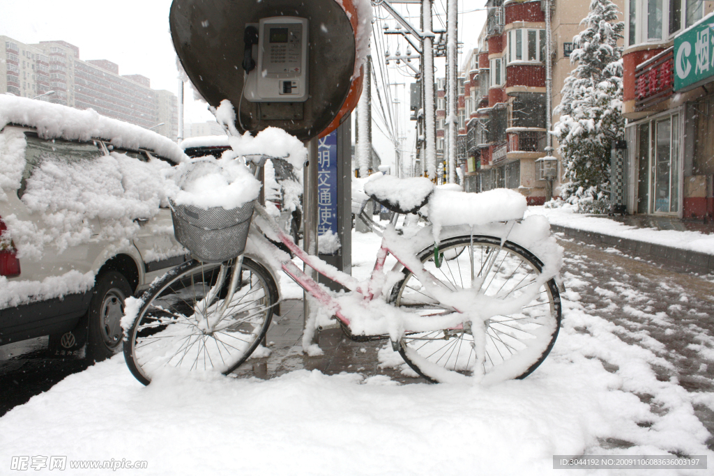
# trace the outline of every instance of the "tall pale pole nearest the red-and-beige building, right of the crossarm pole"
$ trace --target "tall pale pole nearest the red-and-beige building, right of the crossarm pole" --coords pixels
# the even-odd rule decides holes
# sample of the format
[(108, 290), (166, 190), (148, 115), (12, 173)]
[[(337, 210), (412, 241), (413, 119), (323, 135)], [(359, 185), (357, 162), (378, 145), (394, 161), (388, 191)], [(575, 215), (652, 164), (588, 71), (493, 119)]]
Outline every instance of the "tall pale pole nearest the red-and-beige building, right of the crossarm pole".
[(448, 91), (448, 183), (456, 183), (456, 137), (458, 136), (458, 3), (448, 0), (446, 4), (446, 69)]

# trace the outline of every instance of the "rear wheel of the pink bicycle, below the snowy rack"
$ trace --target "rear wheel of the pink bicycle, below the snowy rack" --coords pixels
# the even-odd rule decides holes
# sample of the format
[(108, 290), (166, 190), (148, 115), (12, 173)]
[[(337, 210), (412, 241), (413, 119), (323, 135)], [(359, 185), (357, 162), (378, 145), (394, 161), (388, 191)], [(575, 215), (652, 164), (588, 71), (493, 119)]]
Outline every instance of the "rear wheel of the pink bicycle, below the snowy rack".
[[(441, 260), (439, 268), (434, 263), (433, 251), (433, 248), (423, 250), (418, 258), (451, 293), (476, 285), (478, 294), (493, 298), (489, 302), (495, 306), (518, 300), (526, 302), (516, 312), (483, 315), (483, 329), (474, 329), (476, 324), (472, 320), (458, 328), (407, 331), (399, 346), (404, 361), (430, 382), (449, 380), (449, 373), (443, 373), (442, 369), (463, 375), (483, 374), (484, 382), (520, 379), (532, 373), (553, 348), (562, 313), (554, 279), (533, 289), (543, 263), (516, 243), (506, 241), (501, 248), (501, 239), (491, 236), (474, 236), (473, 245), (471, 236), (443, 241), (440, 252), (453, 258)], [(457, 312), (430, 297), (409, 270), (403, 273), (405, 278), (391, 293), (394, 305), (438, 318)], [(481, 357), (477, 358), (479, 350)]]

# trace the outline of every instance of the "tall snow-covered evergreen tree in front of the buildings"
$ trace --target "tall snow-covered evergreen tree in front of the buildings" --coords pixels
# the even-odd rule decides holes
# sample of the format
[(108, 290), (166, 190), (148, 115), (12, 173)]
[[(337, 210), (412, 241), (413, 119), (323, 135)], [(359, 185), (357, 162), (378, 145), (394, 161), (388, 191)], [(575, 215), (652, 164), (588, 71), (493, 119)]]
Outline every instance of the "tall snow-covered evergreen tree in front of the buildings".
[(592, 0), (590, 13), (580, 22), (585, 30), (573, 37), (570, 62), (575, 69), (565, 79), (560, 120), (553, 131), (560, 141), (565, 178), (561, 195), (585, 212), (608, 208), (610, 146), (625, 138), (622, 115), (622, 47), (625, 24), (610, 0)]

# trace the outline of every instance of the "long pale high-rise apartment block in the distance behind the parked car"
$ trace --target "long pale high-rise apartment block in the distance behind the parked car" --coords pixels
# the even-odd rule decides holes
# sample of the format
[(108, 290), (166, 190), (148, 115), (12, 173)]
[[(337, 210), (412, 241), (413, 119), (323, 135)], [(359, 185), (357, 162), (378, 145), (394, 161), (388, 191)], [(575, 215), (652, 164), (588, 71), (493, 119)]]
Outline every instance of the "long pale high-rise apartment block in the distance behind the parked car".
[[(49, 91), (54, 91), (42, 96)], [(120, 75), (119, 65), (79, 59), (79, 48), (66, 41), (24, 44), (0, 36), (0, 93), (37, 97), (150, 128), (176, 140), (178, 101), (170, 91), (151, 88), (149, 78)]]

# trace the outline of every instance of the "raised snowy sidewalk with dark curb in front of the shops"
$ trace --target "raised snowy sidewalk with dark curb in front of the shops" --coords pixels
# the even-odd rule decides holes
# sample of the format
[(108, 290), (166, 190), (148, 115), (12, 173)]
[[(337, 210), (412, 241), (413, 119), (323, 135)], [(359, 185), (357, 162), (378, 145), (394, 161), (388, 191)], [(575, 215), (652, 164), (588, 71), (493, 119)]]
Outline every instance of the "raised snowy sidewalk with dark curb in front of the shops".
[[(714, 227), (684, 224), (679, 221), (638, 221), (631, 217), (628, 224), (615, 218), (573, 213), (568, 208), (528, 207), (526, 216), (543, 215), (550, 221), (554, 233), (595, 240), (640, 258), (655, 258), (688, 265), (704, 273), (714, 273)], [(660, 228), (654, 228), (657, 225)], [(663, 224), (682, 229), (662, 229)], [(691, 231), (686, 228), (695, 228)], [(707, 233), (708, 232), (708, 233)]]

